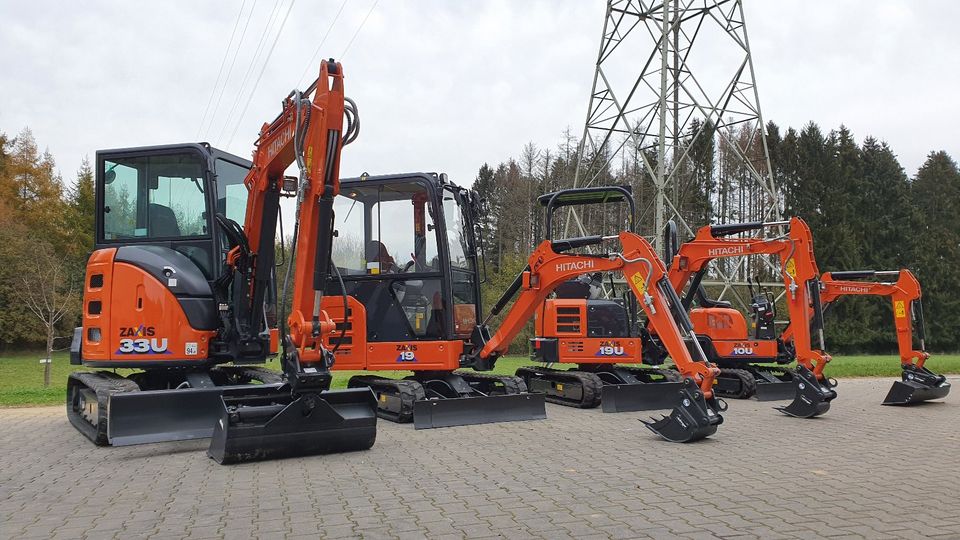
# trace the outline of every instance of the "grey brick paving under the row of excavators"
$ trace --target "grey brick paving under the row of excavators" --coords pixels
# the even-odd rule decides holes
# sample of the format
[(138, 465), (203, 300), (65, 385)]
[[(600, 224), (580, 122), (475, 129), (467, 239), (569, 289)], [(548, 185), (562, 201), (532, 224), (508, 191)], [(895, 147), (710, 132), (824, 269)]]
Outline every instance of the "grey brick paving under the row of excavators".
[(841, 381), (813, 420), (732, 401), (688, 445), (638, 413), (548, 404), (230, 467), (202, 441), (96, 448), (59, 407), (5, 409), (0, 538), (960, 538), (960, 390), (882, 407), (890, 382)]

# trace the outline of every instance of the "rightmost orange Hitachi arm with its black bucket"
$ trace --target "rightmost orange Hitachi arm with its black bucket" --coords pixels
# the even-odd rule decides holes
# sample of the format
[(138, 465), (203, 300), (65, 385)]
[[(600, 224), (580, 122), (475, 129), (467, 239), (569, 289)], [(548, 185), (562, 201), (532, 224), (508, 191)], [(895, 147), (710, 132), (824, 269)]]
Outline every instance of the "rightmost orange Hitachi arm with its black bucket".
[[(889, 281), (890, 278), (895, 281)], [(930, 353), (926, 351), (920, 282), (910, 270), (825, 272), (820, 278), (820, 284), (820, 299), (825, 313), (837, 299), (844, 296), (890, 298), (903, 372), (902, 380), (895, 381), (887, 392), (884, 405), (909, 405), (940, 399), (950, 393), (950, 383), (946, 377), (924, 366)], [(914, 349), (914, 328), (917, 330), (919, 350)], [(785, 342), (789, 343), (794, 339), (793, 329), (794, 325), (791, 323), (783, 331)]]

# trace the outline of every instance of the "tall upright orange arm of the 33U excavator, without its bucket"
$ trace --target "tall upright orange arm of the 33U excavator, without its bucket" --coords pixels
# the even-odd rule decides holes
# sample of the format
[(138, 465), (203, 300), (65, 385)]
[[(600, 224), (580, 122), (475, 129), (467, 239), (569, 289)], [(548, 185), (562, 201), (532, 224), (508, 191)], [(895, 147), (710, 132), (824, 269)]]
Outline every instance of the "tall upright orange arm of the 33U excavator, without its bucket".
[[(312, 99), (308, 96), (313, 92)], [(345, 106), (349, 103), (349, 106)], [(345, 111), (346, 109), (346, 111)], [(343, 133), (344, 114), (347, 132)], [(291, 92), (283, 111), (260, 129), (253, 167), (244, 183), (249, 190), (244, 232), (246, 250), (235, 247), (228, 262), (248, 267), (249, 309), (262, 306), (274, 264), (279, 198), (296, 191), (297, 227), (294, 232), (293, 303), (288, 317), (289, 340), (299, 360), (329, 360), (321, 335), (335, 324), (320, 310), (320, 298), (330, 269), (333, 239), (333, 199), (340, 191), (340, 150), (356, 138), (356, 108), (343, 94), (343, 71), (338, 62), (324, 61), (320, 75), (306, 92)], [(285, 179), (293, 163), (299, 179)], [(289, 276), (287, 276), (289, 277)], [(284, 279), (284, 285), (288, 279)]]

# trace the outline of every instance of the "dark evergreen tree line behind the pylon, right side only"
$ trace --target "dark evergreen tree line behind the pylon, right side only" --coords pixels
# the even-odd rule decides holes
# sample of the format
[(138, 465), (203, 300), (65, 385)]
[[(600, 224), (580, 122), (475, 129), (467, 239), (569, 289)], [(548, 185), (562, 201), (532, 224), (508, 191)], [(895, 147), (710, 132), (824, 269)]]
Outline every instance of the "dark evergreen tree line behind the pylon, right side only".
[[(781, 213), (798, 216), (811, 227), (821, 271), (897, 270), (909, 268), (923, 287), (927, 345), (934, 351), (960, 349), (960, 299), (953, 296), (960, 279), (960, 171), (943, 151), (932, 151), (908, 175), (885, 143), (866, 137), (857, 143), (844, 126), (824, 132), (811, 122), (801, 129), (766, 126), (770, 167), (781, 193)], [(695, 137), (696, 133), (706, 136)], [(767, 174), (762, 140), (744, 131), (714, 137), (710, 125), (692, 123), (685, 163), (678, 166), (673, 197), (677, 211), (693, 229), (708, 223), (751, 221), (763, 215), (763, 193), (748, 178), (747, 166)], [(732, 159), (729, 142), (743, 150), (749, 165)], [(488, 265), (486, 306), (498, 298), (544, 238), (543, 210), (537, 197), (570, 187), (578, 161), (578, 141), (569, 130), (554, 148), (528, 143), (519, 158), (480, 167), (474, 189), (485, 201), (480, 228)], [(606, 149), (598, 150), (598, 153)], [(652, 179), (640, 161), (653, 155), (609, 159), (584, 156), (593, 185), (630, 185), (637, 200), (636, 230), (652, 237)], [(582, 173), (581, 173), (582, 175)], [(569, 214), (558, 213), (555, 235), (579, 236)], [(589, 233), (609, 233), (626, 226), (624, 205), (604, 205), (578, 212)], [(692, 236), (681, 231), (681, 241)], [(722, 262), (718, 261), (722, 268)], [(760, 261), (741, 269), (741, 278), (776, 279)], [(759, 275), (758, 275), (759, 274)], [(896, 351), (892, 311), (887, 299), (839, 300), (827, 317), (828, 350), (837, 353)], [(529, 334), (529, 330), (527, 332)], [(521, 342), (521, 340), (518, 340)]]

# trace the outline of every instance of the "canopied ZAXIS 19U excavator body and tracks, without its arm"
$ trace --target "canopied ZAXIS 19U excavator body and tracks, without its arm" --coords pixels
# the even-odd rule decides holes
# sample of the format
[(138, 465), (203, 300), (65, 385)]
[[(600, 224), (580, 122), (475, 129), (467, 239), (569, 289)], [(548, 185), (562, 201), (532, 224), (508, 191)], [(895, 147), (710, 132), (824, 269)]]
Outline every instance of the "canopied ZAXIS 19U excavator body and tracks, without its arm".
[[(553, 232), (554, 213), (572, 205), (625, 204), (629, 230), (635, 229), (636, 204), (629, 186), (609, 186), (578, 193), (576, 197), (539, 198), (545, 207), (545, 230)], [(604, 210), (607, 208), (605, 207)], [(682, 377), (671, 369), (627, 364), (662, 364), (663, 355), (644, 355), (649, 347), (647, 325), (641, 324), (636, 297), (600, 298), (604, 277), (592, 272), (568, 280), (537, 310), (536, 337), (530, 340), (531, 358), (546, 366), (517, 371), (531, 390), (543, 392), (552, 403), (580, 408), (603, 405), (604, 412), (646, 410), (669, 403)], [(613, 287), (611, 285), (611, 287)], [(613, 289), (611, 289), (613, 290)], [(692, 353), (697, 358), (697, 351)], [(576, 369), (552, 365), (576, 364)], [(659, 404), (659, 405), (658, 405)]]

